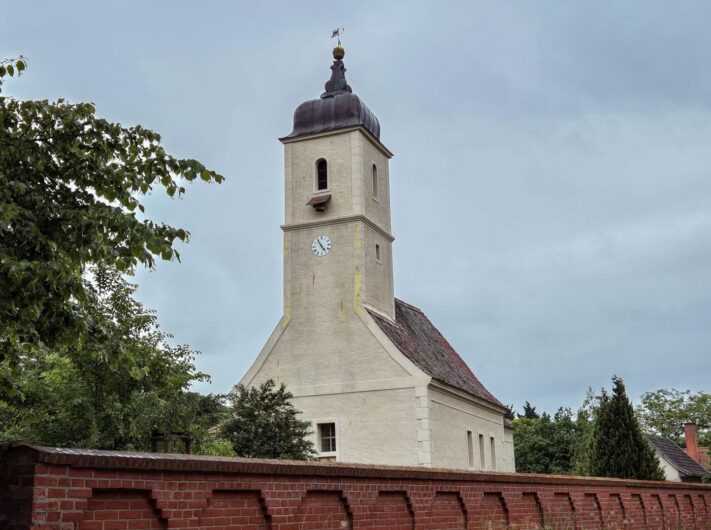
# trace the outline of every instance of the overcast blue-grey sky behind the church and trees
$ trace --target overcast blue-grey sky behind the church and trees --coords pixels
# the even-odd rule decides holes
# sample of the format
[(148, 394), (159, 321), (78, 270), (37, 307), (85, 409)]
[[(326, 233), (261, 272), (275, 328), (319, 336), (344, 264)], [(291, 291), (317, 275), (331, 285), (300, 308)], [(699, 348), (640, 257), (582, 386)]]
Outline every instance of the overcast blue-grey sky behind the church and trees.
[(205, 392), (281, 315), (283, 155), (296, 106), (349, 84), (391, 161), (395, 291), (501, 401), (577, 407), (711, 384), (711, 4), (2, 2), (6, 95), (93, 101), (227, 178), (151, 218), (192, 233), (140, 298), (202, 351)]

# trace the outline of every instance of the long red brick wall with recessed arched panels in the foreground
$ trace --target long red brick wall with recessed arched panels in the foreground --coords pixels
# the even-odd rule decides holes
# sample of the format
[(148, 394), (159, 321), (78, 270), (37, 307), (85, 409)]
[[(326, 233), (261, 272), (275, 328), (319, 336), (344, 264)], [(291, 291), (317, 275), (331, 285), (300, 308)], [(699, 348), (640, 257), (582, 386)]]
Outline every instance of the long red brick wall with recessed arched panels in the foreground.
[(711, 487), (0, 446), (0, 529), (711, 529)]

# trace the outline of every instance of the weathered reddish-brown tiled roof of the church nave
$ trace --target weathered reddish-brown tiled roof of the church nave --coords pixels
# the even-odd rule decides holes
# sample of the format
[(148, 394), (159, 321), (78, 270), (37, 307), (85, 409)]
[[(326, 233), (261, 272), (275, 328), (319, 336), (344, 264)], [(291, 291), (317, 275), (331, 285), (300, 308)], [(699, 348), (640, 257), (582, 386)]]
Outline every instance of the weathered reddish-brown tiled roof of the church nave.
[(427, 375), (504, 408), (418, 308), (396, 298), (395, 322), (370, 309), (368, 313), (392, 343)]

